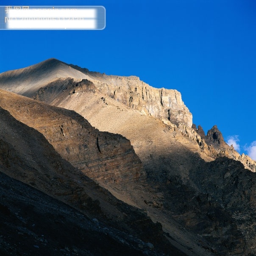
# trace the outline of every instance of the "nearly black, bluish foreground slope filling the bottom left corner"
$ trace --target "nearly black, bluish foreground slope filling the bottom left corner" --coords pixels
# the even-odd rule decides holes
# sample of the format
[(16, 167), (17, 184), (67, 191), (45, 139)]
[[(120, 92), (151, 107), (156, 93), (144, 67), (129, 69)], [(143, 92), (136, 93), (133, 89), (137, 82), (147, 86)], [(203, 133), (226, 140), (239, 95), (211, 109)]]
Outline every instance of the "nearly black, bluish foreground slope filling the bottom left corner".
[[(139, 250), (139, 245), (147, 250), (140, 239), (103, 223), (99, 226), (67, 204), (2, 172), (0, 193), (2, 256), (145, 255)], [(150, 250), (148, 254), (155, 255)]]

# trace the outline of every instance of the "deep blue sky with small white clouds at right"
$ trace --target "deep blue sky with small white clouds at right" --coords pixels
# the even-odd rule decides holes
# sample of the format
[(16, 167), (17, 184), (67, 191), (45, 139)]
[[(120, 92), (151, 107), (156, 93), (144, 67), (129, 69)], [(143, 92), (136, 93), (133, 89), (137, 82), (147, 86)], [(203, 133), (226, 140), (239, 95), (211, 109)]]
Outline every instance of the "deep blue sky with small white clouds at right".
[(0, 31), (0, 72), (58, 58), (108, 75), (137, 75), (180, 91), (196, 125), (206, 132), (217, 125), (226, 141), (256, 159), (255, 0), (0, 4), (106, 8), (102, 31)]

